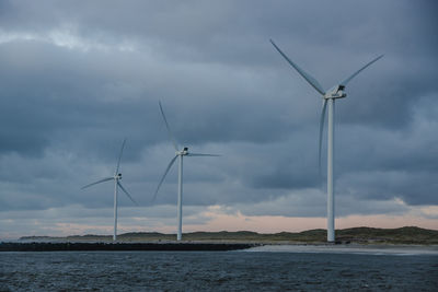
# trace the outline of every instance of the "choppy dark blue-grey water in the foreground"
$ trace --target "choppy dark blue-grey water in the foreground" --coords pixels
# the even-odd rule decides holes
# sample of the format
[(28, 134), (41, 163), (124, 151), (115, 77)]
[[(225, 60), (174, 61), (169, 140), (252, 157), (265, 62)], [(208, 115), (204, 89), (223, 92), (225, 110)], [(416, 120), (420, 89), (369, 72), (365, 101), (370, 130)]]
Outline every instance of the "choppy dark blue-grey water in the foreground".
[(0, 253), (0, 291), (438, 291), (437, 255)]

